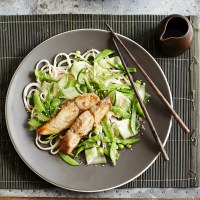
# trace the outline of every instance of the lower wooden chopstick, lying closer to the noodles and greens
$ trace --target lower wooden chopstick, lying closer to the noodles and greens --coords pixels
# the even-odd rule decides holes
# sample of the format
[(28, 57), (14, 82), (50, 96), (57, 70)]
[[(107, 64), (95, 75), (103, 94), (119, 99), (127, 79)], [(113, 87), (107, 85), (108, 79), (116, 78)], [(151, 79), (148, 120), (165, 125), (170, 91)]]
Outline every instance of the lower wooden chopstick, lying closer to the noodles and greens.
[(160, 138), (159, 138), (159, 136), (158, 136), (158, 134), (157, 134), (157, 131), (156, 131), (155, 126), (154, 126), (154, 124), (153, 124), (153, 122), (152, 122), (152, 120), (151, 120), (151, 117), (150, 117), (150, 115), (149, 115), (149, 113), (148, 113), (148, 111), (147, 111), (147, 109), (146, 109), (146, 107), (145, 107), (145, 105), (144, 105), (144, 103), (143, 103), (141, 97), (140, 97), (140, 94), (139, 94), (139, 92), (138, 92), (138, 90), (137, 90), (137, 87), (136, 87), (136, 85), (135, 85), (135, 82), (133, 81), (133, 77), (131, 76), (131, 74), (130, 74), (129, 71), (128, 71), (128, 67), (127, 67), (127, 65), (126, 65), (126, 63), (125, 63), (125, 61), (124, 61), (124, 58), (123, 58), (123, 56), (122, 56), (122, 54), (121, 54), (121, 52), (120, 52), (120, 50), (119, 50), (119, 47), (118, 47), (118, 45), (117, 45), (115, 39), (112, 38), (112, 40), (113, 40), (113, 42), (114, 42), (114, 44), (115, 44), (115, 48), (117, 49), (117, 52), (118, 52), (119, 57), (120, 57), (120, 59), (121, 59), (121, 61), (122, 61), (122, 64), (123, 64), (124, 69), (125, 69), (125, 71), (126, 71), (126, 74), (128, 75), (128, 78), (129, 78), (129, 80), (130, 80), (130, 82), (131, 82), (131, 85), (132, 85), (132, 87), (133, 87), (133, 90), (134, 90), (134, 92), (135, 92), (135, 94), (136, 94), (136, 97), (137, 97), (137, 99), (138, 99), (138, 101), (139, 101), (139, 103), (140, 103), (140, 106), (141, 106), (141, 108), (142, 108), (142, 110), (143, 110), (143, 112), (144, 112), (144, 115), (145, 115), (145, 117), (146, 117), (146, 119), (147, 119), (147, 122), (148, 122), (148, 124), (149, 124), (150, 129), (151, 129), (151, 132), (152, 132), (152, 134), (153, 134), (153, 137), (154, 137), (155, 141), (157, 142), (157, 144), (158, 144), (158, 146), (159, 146), (159, 148), (160, 148), (160, 151), (161, 151), (161, 153), (162, 153), (162, 156), (163, 156), (164, 160), (165, 160), (165, 161), (168, 161), (168, 160), (169, 160), (169, 157), (168, 157), (168, 155), (167, 155), (167, 153), (166, 153), (166, 151), (165, 151), (165, 149), (164, 149), (164, 147), (163, 147), (163, 145), (162, 145), (162, 142), (161, 142), (161, 140), (160, 140)]

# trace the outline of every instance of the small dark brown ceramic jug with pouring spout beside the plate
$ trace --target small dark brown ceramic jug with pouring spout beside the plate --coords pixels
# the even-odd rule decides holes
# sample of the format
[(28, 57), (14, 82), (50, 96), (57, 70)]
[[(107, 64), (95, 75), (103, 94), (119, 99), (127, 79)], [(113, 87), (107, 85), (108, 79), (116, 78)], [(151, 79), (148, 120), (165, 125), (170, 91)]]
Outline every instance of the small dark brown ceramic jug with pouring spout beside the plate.
[(167, 56), (178, 56), (190, 46), (193, 28), (182, 15), (169, 15), (155, 30), (155, 44)]

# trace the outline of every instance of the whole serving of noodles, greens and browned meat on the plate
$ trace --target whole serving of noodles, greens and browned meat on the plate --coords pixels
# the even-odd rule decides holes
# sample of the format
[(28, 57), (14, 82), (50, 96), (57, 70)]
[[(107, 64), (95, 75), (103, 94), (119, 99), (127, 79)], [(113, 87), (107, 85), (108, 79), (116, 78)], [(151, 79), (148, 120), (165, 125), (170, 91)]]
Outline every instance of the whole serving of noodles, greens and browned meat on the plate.
[[(80, 165), (76, 158), (81, 155), (88, 165), (108, 159), (116, 165), (120, 151), (139, 141), (144, 114), (120, 58), (113, 53), (110, 49), (60, 53), (52, 64), (37, 63), (36, 81), (25, 87), (23, 101), (38, 148), (59, 154), (73, 166)], [(145, 83), (135, 83), (147, 102)]]

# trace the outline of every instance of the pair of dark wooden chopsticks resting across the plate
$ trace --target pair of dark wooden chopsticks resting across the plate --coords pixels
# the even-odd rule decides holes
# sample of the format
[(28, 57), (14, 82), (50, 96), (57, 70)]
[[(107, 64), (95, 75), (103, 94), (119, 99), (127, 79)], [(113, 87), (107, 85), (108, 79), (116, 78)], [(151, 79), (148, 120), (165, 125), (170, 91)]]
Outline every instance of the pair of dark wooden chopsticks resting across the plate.
[(137, 90), (137, 87), (135, 85), (135, 82), (133, 81), (133, 77), (132, 75), (129, 73), (128, 71), (128, 67), (126, 65), (126, 62), (119, 50), (119, 47), (118, 47), (118, 44), (117, 42), (121, 45), (121, 47), (125, 50), (125, 52), (128, 54), (128, 56), (130, 57), (130, 59), (133, 61), (133, 63), (138, 67), (138, 69), (141, 71), (141, 73), (143, 74), (143, 76), (146, 78), (146, 80), (149, 82), (149, 84), (151, 85), (151, 87), (154, 89), (154, 91), (156, 92), (156, 94), (159, 96), (159, 98), (162, 100), (162, 102), (166, 105), (166, 107), (168, 108), (168, 110), (171, 112), (171, 114), (173, 115), (173, 117), (176, 119), (176, 121), (179, 123), (179, 125), (181, 126), (181, 128), (184, 130), (185, 133), (189, 133), (190, 130), (188, 129), (188, 127), (184, 124), (184, 122), (181, 120), (181, 118), (178, 116), (178, 114), (175, 112), (175, 110), (172, 108), (172, 106), (169, 104), (169, 102), (165, 99), (165, 97), (163, 96), (163, 94), (160, 92), (160, 90), (157, 88), (157, 86), (153, 83), (153, 81), (150, 79), (150, 77), (147, 75), (147, 73), (144, 71), (144, 69), (141, 67), (141, 65), (137, 62), (137, 60), (133, 57), (133, 55), (130, 53), (130, 51), (126, 48), (126, 46), (123, 44), (123, 42), (119, 39), (119, 37), (117, 36), (117, 34), (112, 30), (112, 28), (107, 24), (105, 23), (106, 26), (108, 27), (108, 29), (110, 30), (111, 34), (112, 34), (112, 40), (113, 40), (113, 43), (115, 45), (115, 48), (119, 54), (119, 57), (122, 61), (122, 64), (125, 68), (125, 71), (128, 75), (128, 78), (130, 80), (130, 83), (133, 87), (133, 90), (135, 92), (135, 95), (140, 103), (140, 106), (144, 112), (144, 115), (147, 119), (147, 122), (148, 122), (148, 125), (151, 129), (151, 132), (153, 134), (153, 137), (155, 139), (155, 141), (157, 142), (159, 148), (160, 148), (160, 151), (161, 151), (161, 154), (164, 158), (165, 161), (168, 161), (169, 160), (169, 157), (162, 145), (162, 142), (158, 136), (158, 133), (155, 129), (155, 126), (151, 120), (151, 117), (138, 93), (138, 90)]

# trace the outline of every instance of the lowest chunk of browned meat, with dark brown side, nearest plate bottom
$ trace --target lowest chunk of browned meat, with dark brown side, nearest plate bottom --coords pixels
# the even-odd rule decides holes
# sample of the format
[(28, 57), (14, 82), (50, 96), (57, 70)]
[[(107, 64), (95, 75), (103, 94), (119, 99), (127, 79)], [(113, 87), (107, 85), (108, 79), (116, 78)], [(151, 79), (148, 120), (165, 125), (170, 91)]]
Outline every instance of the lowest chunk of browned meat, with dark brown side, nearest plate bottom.
[(74, 133), (71, 130), (68, 130), (64, 137), (62, 138), (60, 151), (70, 154), (73, 149), (78, 145), (81, 136), (79, 134)]

